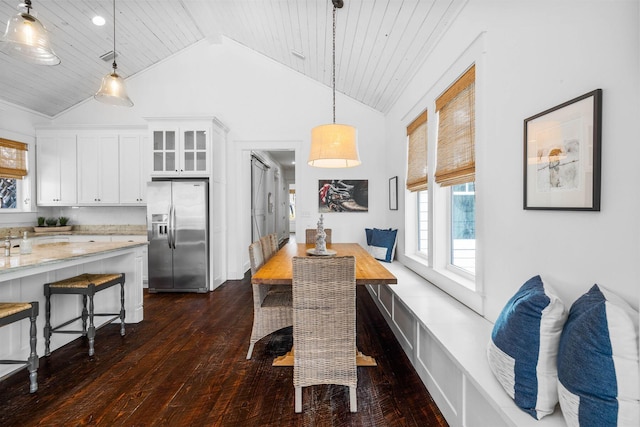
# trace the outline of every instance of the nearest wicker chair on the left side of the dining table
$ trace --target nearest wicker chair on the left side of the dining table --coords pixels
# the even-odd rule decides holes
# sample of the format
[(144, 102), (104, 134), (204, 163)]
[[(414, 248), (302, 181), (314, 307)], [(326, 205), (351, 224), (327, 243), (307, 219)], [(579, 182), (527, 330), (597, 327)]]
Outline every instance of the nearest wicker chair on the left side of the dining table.
[[(255, 274), (264, 264), (262, 245), (260, 241), (249, 245), (249, 260), (251, 274)], [(249, 340), (247, 359), (251, 359), (253, 346), (267, 335), (293, 325), (292, 292), (291, 289), (277, 290), (271, 285), (252, 284), (253, 290), (253, 328)]]

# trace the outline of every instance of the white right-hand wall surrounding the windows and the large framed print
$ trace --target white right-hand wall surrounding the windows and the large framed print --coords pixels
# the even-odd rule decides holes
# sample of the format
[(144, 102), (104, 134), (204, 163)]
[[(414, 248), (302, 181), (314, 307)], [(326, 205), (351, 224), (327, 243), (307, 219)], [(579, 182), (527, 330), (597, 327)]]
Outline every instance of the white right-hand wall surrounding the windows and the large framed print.
[[(598, 283), (638, 306), (639, 16), (637, 1), (470, 0), (387, 115), (388, 170), (403, 184), (404, 152), (394, 144), (406, 140), (407, 124), (424, 108), (433, 111), (456, 64), (477, 61), (478, 280), (489, 320), (535, 274), (567, 304)], [(601, 211), (523, 210), (523, 120), (597, 88)], [(394, 212), (389, 222), (403, 218)], [(402, 242), (398, 249), (402, 256)]]

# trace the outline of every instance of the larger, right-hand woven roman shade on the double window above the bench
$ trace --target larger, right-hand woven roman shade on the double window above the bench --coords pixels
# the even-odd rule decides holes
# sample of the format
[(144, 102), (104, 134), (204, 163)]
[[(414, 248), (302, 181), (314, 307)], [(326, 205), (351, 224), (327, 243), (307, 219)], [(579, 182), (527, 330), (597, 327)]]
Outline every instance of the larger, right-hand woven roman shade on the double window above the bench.
[(475, 65), (437, 100), (435, 181), (443, 187), (475, 181)]

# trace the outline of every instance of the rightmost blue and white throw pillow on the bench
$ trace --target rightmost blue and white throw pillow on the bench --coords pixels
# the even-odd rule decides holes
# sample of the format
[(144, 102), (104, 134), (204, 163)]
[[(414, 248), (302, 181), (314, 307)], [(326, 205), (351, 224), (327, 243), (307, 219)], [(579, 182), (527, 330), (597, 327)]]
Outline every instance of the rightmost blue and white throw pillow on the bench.
[(558, 394), (569, 426), (640, 425), (638, 312), (594, 285), (560, 338)]

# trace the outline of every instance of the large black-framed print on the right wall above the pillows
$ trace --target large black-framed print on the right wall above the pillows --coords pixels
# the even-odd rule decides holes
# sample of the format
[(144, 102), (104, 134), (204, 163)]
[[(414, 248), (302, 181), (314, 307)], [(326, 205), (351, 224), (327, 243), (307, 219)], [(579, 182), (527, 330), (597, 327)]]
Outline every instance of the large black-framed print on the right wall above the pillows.
[(600, 210), (602, 89), (524, 120), (526, 210)]

